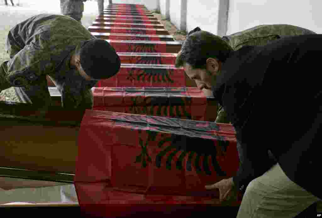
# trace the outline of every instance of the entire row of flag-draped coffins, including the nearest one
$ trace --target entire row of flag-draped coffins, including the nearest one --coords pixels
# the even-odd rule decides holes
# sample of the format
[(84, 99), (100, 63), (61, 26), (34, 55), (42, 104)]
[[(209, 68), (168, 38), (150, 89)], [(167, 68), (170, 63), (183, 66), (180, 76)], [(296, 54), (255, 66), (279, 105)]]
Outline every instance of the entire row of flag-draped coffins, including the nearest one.
[[(132, 187), (142, 186), (140, 179), (146, 178), (164, 193), (170, 191), (162, 188), (164, 178), (179, 178), (180, 174), (185, 175), (180, 177), (185, 183), (185, 187), (180, 186), (182, 193), (193, 190), (189, 196), (204, 201), (218, 198), (217, 191), (209, 194), (203, 185), (230, 177), (238, 169), (234, 129), (229, 124), (204, 122), (215, 119), (216, 103), (202, 91), (190, 87), (194, 86), (193, 82), (182, 69), (174, 67), (181, 43), (175, 42), (159, 25), (144, 7), (111, 5), (89, 27), (93, 35), (109, 40), (122, 63), (118, 76), (99, 81), (92, 88), (94, 110), (70, 111), (52, 106), (39, 111), (29, 104), (0, 102), (3, 108), (0, 128), (6, 131), (5, 143), (0, 147), (0, 175), (94, 184), (96, 180), (91, 179), (97, 175), (91, 175), (91, 167), (95, 165), (96, 169), (104, 170), (99, 160), (107, 157), (97, 156), (98, 162), (93, 163), (93, 158), (87, 158), (90, 152), (92, 155), (101, 152), (94, 154), (95, 149), (88, 150), (88, 143), (91, 144), (88, 148), (100, 147), (102, 143), (112, 146), (113, 152), (124, 145), (140, 148), (145, 144), (142, 150), (119, 150), (109, 156), (116, 158), (112, 162), (118, 159), (120, 167), (124, 164), (120, 169), (113, 166), (113, 178), (109, 179), (114, 185), (123, 184), (124, 172), (136, 172), (142, 176), (133, 175)], [(50, 81), (49, 84), (52, 85)], [(52, 98), (59, 101), (57, 89), (50, 87), (49, 90)], [(111, 138), (112, 133), (118, 137)], [(196, 147), (196, 142), (210, 150), (205, 152), (203, 147)], [(152, 162), (148, 163), (147, 159), (145, 163), (144, 156), (152, 158)], [(81, 165), (76, 166), (77, 158), (82, 158), (78, 162)], [(153, 173), (144, 176), (146, 170), (141, 168), (146, 164)], [(172, 181), (164, 187), (178, 187), (178, 182)], [(125, 188), (121, 186), (115, 188)], [(181, 199), (182, 193), (179, 193)]]

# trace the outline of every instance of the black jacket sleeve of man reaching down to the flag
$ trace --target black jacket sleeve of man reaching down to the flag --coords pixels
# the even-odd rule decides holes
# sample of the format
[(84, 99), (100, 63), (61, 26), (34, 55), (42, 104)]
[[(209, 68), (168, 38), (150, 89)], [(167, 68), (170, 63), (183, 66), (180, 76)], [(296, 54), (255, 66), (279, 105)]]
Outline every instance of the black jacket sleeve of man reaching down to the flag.
[(214, 89), (215, 98), (223, 105), (236, 130), (240, 167), (233, 181), (237, 188), (247, 186), (276, 163), (269, 156), (270, 145), (262, 137), (267, 130), (259, 119), (265, 116), (258, 110), (263, 68), (270, 62), (265, 57), (258, 60), (259, 52), (253, 46), (234, 52), (224, 63)]

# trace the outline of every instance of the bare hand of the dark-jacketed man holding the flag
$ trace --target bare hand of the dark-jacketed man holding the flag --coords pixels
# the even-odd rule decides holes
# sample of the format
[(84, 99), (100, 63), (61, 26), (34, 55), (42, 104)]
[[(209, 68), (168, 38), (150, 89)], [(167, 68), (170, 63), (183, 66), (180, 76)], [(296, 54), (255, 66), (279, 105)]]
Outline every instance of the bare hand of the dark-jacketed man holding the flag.
[(220, 197), (219, 202), (231, 200), (231, 198), (234, 198), (234, 195), (237, 195), (237, 192), (233, 190), (234, 183), (232, 181), (232, 177), (229, 179), (223, 179), (213, 185), (206, 185), (205, 188), (208, 190), (218, 188)]

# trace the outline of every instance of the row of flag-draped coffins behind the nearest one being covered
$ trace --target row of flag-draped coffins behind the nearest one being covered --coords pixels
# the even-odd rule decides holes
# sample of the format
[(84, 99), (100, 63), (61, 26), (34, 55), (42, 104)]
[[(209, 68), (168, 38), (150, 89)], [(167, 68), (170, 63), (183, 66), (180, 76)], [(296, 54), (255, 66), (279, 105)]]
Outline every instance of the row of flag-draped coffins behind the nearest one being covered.
[[(89, 30), (93, 35), (112, 43), (121, 60), (117, 75), (99, 81), (93, 88), (93, 109), (214, 121), (216, 102), (193, 88), (194, 81), (185, 75), (182, 68), (175, 68), (176, 52), (180, 50), (181, 43), (174, 41), (149, 10), (112, 5), (97, 17)], [(163, 35), (158, 35), (157, 31)], [(132, 102), (132, 106), (123, 102), (122, 94), (117, 91), (121, 88), (123, 94), (131, 98), (128, 102)], [(54, 87), (50, 87), (50, 93), (55, 105), (59, 105), (60, 93)], [(143, 99), (144, 105), (137, 105), (138, 98)], [(177, 104), (175, 107), (174, 102)], [(194, 112), (185, 112), (190, 105), (194, 105)]]

